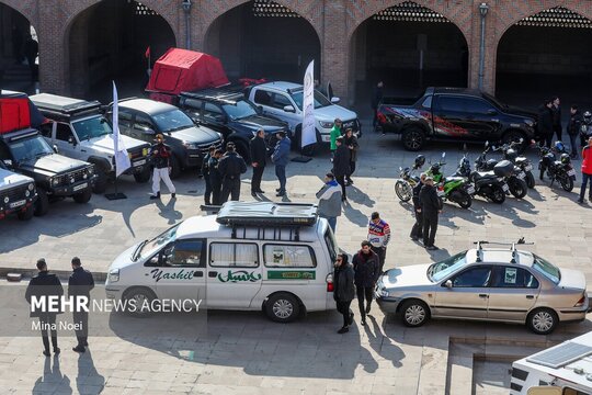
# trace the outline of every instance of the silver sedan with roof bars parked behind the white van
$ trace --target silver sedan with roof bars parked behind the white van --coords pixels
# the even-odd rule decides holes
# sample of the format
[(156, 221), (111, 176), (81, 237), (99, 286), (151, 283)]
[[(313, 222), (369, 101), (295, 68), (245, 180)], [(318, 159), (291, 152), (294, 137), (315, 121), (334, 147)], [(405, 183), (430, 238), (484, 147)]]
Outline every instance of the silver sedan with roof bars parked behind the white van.
[(409, 327), (429, 318), (526, 324), (551, 332), (592, 311), (582, 272), (512, 249), (470, 249), (433, 264), (391, 269), (376, 285), (383, 312)]

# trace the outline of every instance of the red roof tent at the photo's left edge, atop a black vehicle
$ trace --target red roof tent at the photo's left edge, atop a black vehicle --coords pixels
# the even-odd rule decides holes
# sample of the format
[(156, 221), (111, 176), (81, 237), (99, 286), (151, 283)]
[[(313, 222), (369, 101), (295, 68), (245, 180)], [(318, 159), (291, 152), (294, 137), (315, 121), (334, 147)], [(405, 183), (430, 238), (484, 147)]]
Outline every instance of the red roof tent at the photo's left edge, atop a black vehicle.
[(45, 117), (25, 93), (0, 92), (0, 134), (37, 127)]

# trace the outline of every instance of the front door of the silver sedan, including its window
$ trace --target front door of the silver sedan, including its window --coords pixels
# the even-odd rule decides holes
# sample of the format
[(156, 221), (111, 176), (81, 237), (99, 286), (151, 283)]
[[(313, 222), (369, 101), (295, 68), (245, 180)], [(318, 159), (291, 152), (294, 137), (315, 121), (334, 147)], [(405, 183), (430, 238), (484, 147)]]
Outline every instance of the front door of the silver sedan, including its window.
[(487, 318), (491, 269), (489, 264), (473, 266), (444, 280), (435, 292), (433, 315)]

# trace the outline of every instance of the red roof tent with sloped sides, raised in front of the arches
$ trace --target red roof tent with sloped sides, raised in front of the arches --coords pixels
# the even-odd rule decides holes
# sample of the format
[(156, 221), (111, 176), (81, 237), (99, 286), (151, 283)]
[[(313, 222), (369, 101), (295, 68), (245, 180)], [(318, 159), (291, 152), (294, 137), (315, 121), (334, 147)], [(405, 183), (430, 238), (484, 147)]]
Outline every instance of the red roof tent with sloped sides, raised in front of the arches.
[[(195, 50), (170, 48), (155, 64), (146, 90), (152, 99), (169, 101), (182, 91), (216, 88), (227, 83), (228, 78), (218, 58)], [(169, 100), (163, 100), (163, 97)]]

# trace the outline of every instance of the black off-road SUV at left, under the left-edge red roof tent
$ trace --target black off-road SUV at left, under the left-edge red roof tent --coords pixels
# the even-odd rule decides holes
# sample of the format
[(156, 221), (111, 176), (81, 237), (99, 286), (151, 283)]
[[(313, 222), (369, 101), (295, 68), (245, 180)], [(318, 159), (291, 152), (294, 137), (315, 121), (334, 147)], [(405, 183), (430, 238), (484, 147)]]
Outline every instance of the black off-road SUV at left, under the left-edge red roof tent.
[(34, 128), (0, 135), (0, 160), (9, 170), (35, 180), (35, 215), (45, 215), (50, 200), (73, 198), (77, 203), (88, 203), (92, 196), (93, 165), (55, 154)]

